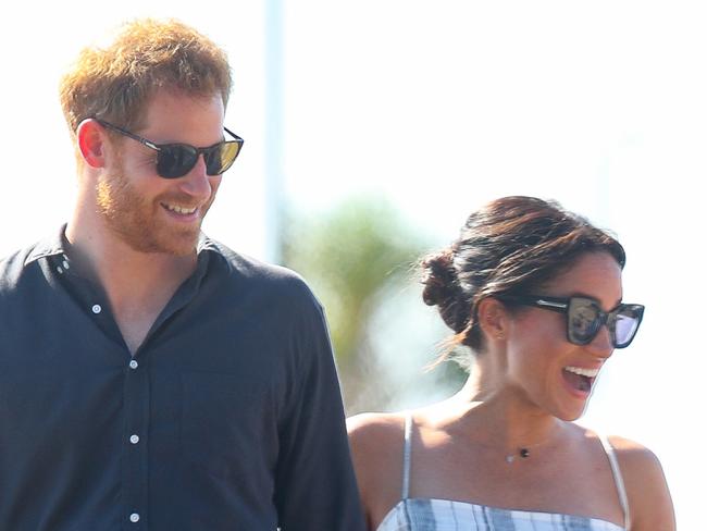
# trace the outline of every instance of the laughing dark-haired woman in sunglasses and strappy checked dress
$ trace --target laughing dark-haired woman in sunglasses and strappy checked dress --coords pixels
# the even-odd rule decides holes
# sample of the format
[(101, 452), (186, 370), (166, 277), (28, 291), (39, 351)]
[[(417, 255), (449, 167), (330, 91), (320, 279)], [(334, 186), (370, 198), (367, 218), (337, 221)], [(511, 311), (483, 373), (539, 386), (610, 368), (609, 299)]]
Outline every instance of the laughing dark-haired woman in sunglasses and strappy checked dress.
[(643, 307), (621, 245), (555, 202), (506, 197), (427, 257), (423, 299), (474, 355), (451, 398), (349, 419), (369, 529), (671, 531), (657, 458), (572, 421)]

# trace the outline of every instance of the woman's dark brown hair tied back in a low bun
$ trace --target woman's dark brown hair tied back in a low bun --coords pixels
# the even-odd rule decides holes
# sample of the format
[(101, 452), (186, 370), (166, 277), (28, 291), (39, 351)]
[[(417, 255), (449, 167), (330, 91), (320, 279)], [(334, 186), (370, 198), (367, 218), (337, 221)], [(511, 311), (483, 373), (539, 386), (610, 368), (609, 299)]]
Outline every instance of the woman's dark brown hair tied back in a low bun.
[[(472, 213), (459, 238), (422, 259), (422, 298), (437, 306), (455, 332), (451, 346), (483, 350), (476, 320), (486, 297), (528, 295), (569, 269), (585, 252), (611, 255), (623, 269), (619, 242), (556, 201), (512, 196)], [(443, 355), (443, 358), (446, 355)]]

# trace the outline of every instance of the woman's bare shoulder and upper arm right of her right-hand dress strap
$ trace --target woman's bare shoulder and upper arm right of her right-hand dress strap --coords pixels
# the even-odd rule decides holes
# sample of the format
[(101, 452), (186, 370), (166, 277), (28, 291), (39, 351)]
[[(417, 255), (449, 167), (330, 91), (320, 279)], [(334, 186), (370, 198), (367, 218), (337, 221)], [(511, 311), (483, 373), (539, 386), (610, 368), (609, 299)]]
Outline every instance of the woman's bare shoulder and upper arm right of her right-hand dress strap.
[(625, 485), (632, 529), (674, 530), (672, 499), (656, 454), (630, 439), (618, 435), (607, 439), (617, 456)]

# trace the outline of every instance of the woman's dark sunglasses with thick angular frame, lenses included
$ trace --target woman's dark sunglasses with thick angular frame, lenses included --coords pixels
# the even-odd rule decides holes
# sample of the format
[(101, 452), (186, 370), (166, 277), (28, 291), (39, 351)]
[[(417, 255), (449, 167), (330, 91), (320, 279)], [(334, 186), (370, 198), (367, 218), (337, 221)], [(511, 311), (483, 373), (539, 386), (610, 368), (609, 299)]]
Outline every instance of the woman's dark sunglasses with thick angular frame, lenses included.
[(592, 343), (601, 325), (606, 324), (615, 348), (625, 348), (631, 344), (638, 331), (645, 309), (642, 305), (621, 304), (611, 311), (604, 311), (596, 300), (587, 297), (517, 295), (499, 297), (499, 299), (567, 314), (567, 338), (574, 345)]

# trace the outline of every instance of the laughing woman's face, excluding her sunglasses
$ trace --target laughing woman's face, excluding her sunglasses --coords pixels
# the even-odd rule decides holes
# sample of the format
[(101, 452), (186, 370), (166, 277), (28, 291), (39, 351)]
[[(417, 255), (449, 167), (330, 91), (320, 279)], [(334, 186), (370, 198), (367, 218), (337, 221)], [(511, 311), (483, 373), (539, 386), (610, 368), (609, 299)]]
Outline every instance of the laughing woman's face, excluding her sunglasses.
[[(587, 252), (532, 295), (588, 297), (609, 311), (621, 301), (621, 268), (607, 252)], [(582, 415), (596, 374), (613, 351), (606, 325), (587, 345), (574, 345), (567, 338), (567, 316), (543, 308), (516, 312), (506, 345), (507, 383), (532, 405), (563, 420)]]

